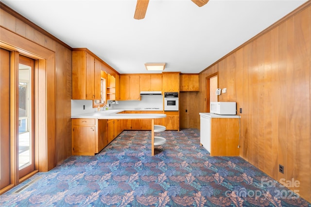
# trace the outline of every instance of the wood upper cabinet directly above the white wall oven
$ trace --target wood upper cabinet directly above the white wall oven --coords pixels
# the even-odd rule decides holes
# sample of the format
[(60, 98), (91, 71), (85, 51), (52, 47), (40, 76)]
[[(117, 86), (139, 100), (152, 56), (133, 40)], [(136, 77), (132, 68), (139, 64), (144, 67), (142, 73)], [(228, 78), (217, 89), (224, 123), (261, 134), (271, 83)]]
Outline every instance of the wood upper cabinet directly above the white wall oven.
[(162, 72), (163, 92), (179, 92), (179, 72)]

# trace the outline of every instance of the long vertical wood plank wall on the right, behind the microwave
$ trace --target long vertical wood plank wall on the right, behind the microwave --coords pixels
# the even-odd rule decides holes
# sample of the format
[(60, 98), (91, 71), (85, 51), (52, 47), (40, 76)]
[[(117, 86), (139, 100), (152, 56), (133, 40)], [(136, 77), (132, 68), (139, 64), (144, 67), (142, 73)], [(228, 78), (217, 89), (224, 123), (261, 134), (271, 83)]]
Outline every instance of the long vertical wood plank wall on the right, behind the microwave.
[(300, 10), (200, 74), (200, 111), (205, 79), (218, 71), (219, 87), (227, 88), (219, 101), (242, 108), (240, 156), (278, 181), (298, 180), (291, 189), (310, 202), (310, 3)]

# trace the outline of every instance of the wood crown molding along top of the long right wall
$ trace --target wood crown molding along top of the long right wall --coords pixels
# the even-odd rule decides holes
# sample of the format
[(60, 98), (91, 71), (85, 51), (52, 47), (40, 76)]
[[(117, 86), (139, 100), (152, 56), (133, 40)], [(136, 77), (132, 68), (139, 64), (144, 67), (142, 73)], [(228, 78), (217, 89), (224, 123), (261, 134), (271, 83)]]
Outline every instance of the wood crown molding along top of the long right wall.
[(299, 6), (298, 8), (296, 8), (294, 11), (292, 11), (291, 13), (289, 13), (288, 15), (284, 16), (283, 18), (281, 18), (280, 20), (276, 21), (273, 25), (271, 25), (270, 27), (266, 28), (265, 30), (263, 30), (262, 32), (258, 33), (256, 36), (252, 37), (251, 39), (249, 39), (248, 41), (244, 42), (242, 45), (240, 45), (238, 48), (235, 48), (234, 50), (232, 50), (231, 52), (229, 52), (228, 54), (226, 54), (224, 57), (222, 57), (221, 59), (219, 59), (218, 61), (216, 61), (215, 63), (209, 65), (207, 68), (205, 68), (204, 70), (202, 70), (200, 72), (203, 73), (204, 71), (208, 70), (209, 68), (211, 68), (212, 66), (214, 66), (215, 64), (221, 62), (222, 60), (224, 60), (226, 57), (228, 57), (229, 55), (235, 53), (237, 50), (245, 47), (247, 44), (249, 44), (250, 42), (253, 42), (255, 39), (259, 38), (260, 36), (264, 35), (265, 33), (273, 30), (274, 28), (276, 28), (277, 26), (279, 26), (280, 24), (282, 24), (283, 22), (287, 21), (289, 18), (295, 16), (296, 14), (298, 14), (299, 12), (301, 12), (302, 10), (308, 8), (311, 5), (311, 0), (308, 0), (307, 2), (305, 2), (304, 4), (302, 4), (301, 6)]

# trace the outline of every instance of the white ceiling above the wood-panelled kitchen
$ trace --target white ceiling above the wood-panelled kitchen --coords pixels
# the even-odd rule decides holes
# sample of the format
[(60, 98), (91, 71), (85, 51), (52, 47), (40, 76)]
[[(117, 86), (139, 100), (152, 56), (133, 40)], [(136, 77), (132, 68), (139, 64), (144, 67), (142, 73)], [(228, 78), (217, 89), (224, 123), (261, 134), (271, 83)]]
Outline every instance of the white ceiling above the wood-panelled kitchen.
[(119, 73), (147, 73), (144, 63), (199, 73), (307, 0), (150, 0), (141, 20), (136, 0), (1, 1)]

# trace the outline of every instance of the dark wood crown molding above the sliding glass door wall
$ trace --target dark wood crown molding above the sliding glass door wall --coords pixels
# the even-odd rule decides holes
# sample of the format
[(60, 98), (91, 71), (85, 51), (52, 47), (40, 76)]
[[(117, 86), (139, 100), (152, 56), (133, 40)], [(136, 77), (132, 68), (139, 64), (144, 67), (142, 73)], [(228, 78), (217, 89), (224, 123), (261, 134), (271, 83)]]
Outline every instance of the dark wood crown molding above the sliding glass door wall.
[(35, 23), (33, 23), (32, 21), (30, 21), (29, 19), (27, 19), (26, 17), (18, 14), (16, 11), (14, 11), (13, 9), (11, 9), (10, 7), (8, 7), (7, 5), (5, 5), (4, 3), (0, 2), (0, 9), (2, 9), (3, 11), (9, 13), (10, 15), (16, 17), (17, 19), (21, 20), (22, 22), (28, 24), (29, 26), (31, 26), (32, 28), (34, 28), (35, 30), (37, 30), (38, 32), (41, 32), (42, 34), (46, 35), (47, 37), (51, 38), (52, 40), (54, 40), (55, 42), (61, 44), (62, 46), (64, 46), (65, 48), (68, 49), (72, 49), (69, 45), (67, 45), (66, 43), (64, 43), (63, 41), (57, 39), (55, 36), (53, 36), (52, 34), (50, 34), (49, 32), (43, 30), (41, 27), (37, 26)]

